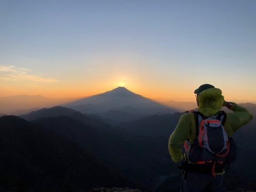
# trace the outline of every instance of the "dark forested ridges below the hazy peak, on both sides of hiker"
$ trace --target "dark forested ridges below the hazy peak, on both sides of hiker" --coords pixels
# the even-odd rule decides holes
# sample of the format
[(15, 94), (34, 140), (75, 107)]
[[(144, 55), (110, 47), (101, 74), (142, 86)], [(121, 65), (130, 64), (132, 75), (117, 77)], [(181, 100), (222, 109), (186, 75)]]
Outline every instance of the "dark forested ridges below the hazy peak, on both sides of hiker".
[[(177, 191), (182, 171), (172, 163), (167, 142), (180, 115), (118, 126), (63, 107), (0, 117), (0, 191)], [(226, 174), (229, 190), (255, 189), (256, 158), (248, 147), (255, 146), (255, 123), (234, 134), (241, 152)]]

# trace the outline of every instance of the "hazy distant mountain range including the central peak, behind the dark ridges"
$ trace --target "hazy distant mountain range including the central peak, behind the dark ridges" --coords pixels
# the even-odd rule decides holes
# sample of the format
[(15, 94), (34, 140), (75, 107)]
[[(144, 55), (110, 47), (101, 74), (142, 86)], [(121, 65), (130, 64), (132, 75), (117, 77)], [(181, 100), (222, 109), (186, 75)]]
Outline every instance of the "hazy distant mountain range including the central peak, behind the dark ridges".
[[(54, 106), (72, 108), (81, 113), (97, 114), (102, 118), (109, 118), (109, 122), (113, 124), (154, 114), (182, 113), (183, 111), (197, 107), (195, 101), (178, 102), (169, 100), (157, 102), (133, 93), (125, 89), (125, 87), (117, 87), (112, 91), (82, 99), (51, 99), (42, 95), (17, 95), (0, 98), (0, 117), (6, 114), (25, 115), (31, 111)], [(125, 118), (114, 117), (113, 114), (116, 113), (115, 111), (118, 111), (119, 114), (125, 113)], [(114, 121), (113, 118), (115, 119)]]

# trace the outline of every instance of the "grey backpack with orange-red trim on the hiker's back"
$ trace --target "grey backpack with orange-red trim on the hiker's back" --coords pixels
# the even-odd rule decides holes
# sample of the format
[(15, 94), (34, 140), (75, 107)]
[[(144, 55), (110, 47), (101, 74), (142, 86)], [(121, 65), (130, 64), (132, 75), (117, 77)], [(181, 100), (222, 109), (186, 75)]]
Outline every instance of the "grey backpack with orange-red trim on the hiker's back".
[(190, 111), (195, 114), (196, 135), (192, 144), (188, 139), (184, 143), (187, 171), (222, 173), (223, 168), (234, 162), (237, 156), (237, 147), (232, 138), (228, 138), (223, 126), (226, 113), (219, 111), (211, 117), (204, 116), (199, 111)]

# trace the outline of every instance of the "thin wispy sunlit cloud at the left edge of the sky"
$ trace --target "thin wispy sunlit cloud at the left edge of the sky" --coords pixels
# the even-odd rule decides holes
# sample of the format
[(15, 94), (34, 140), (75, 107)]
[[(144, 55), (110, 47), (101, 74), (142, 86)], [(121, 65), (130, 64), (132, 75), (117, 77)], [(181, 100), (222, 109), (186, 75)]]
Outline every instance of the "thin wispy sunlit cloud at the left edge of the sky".
[(33, 75), (31, 74), (30, 69), (17, 68), (15, 66), (0, 65), (0, 74), (2, 80), (26, 80), (40, 83), (53, 83), (58, 81), (58, 79), (55, 78), (45, 78), (39, 75)]

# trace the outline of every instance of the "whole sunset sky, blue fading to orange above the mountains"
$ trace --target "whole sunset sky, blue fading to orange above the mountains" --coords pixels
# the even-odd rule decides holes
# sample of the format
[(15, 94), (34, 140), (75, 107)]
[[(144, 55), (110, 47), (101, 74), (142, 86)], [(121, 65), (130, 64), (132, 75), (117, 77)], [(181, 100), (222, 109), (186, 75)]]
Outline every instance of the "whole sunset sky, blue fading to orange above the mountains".
[(124, 86), (194, 101), (209, 83), (227, 100), (256, 102), (255, 9), (254, 0), (0, 0), (0, 97)]

